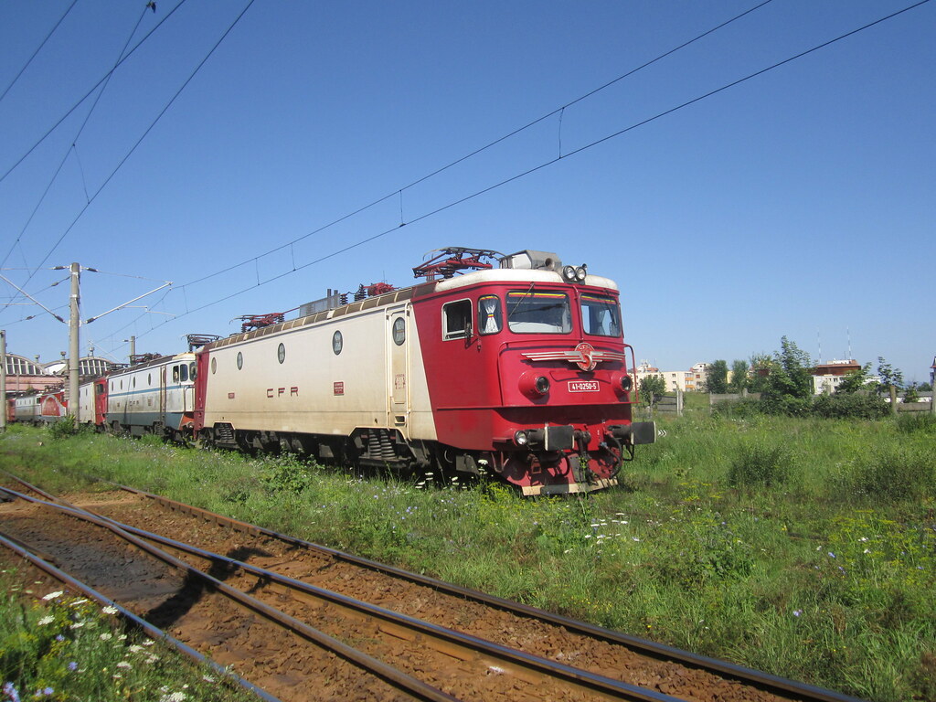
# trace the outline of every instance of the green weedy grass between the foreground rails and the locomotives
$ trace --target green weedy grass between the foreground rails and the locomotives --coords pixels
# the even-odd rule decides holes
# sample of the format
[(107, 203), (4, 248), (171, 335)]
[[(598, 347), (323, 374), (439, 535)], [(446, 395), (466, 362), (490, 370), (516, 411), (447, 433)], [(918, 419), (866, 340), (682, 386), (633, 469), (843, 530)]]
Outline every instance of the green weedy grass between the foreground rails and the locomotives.
[(936, 699), (932, 424), (660, 422), (622, 489), (584, 498), (19, 427), (0, 467), (49, 490), (108, 489), (91, 476), (152, 490), (870, 700)]

